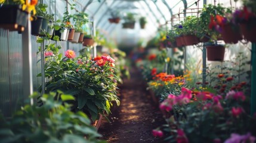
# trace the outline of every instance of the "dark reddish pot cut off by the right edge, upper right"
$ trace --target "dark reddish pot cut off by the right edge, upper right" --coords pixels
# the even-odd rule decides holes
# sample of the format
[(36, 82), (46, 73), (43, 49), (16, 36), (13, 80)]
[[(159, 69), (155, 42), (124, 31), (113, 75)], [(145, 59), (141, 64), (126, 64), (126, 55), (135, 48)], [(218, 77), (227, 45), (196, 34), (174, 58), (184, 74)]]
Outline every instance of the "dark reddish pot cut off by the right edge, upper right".
[(252, 22), (239, 24), (243, 38), (247, 41), (256, 42), (256, 25)]

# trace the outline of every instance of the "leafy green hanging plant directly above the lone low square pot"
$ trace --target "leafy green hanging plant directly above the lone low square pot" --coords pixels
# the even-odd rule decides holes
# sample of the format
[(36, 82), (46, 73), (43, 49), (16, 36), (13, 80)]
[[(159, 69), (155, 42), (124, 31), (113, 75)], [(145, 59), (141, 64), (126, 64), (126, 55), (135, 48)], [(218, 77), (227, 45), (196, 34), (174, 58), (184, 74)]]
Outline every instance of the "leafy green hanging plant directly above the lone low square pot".
[(223, 5), (204, 5), (200, 14), (196, 31), (202, 42), (214, 41), (221, 38), (221, 34), (214, 30), (215, 23), (211, 23), (212, 17), (216, 15), (223, 16), (226, 13), (226, 8)]

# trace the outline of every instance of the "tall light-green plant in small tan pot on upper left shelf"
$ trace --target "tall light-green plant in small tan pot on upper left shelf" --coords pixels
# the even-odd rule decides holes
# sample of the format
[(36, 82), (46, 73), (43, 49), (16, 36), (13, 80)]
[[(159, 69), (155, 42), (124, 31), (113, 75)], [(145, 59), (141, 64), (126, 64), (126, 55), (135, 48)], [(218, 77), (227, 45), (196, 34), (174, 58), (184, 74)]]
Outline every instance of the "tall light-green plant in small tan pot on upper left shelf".
[(73, 21), (75, 23), (75, 35), (72, 42), (78, 43), (82, 42), (84, 38), (84, 32), (82, 26), (88, 23), (87, 13), (77, 13), (72, 15)]

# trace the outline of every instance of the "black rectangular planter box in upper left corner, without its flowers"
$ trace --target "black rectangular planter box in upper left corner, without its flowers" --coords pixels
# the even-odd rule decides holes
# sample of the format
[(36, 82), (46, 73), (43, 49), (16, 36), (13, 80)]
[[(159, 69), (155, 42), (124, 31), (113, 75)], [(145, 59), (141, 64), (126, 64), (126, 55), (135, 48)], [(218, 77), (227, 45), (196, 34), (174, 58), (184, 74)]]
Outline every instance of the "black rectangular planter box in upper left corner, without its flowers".
[(2, 5), (0, 7), (0, 27), (11, 31), (24, 31), (29, 20), (28, 13), (21, 5)]

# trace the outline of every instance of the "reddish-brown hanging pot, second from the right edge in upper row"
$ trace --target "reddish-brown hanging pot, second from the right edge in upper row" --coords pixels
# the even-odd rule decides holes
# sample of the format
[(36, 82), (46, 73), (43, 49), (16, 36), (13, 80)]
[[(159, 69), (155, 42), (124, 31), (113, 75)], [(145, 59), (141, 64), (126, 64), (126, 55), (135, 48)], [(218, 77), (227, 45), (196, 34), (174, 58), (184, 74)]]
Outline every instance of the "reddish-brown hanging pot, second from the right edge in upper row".
[(238, 41), (242, 40), (239, 26), (229, 23), (225, 24), (222, 28), (221, 36), (225, 43), (238, 43)]

